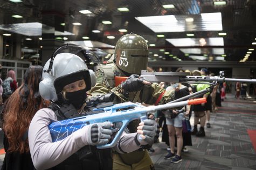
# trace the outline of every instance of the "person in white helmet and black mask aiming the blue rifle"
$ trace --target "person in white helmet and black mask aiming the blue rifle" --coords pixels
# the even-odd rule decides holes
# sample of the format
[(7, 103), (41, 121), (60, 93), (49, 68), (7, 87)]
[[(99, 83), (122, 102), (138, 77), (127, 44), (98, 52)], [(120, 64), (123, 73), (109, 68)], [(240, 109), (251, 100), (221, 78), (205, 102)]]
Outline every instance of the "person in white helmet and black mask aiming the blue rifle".
[[(72, 45), (71, 48), (75, 47)], [(109, 142), (112, 135), (110, 122), (86, 125), (61, 141), (52, 142), (48, 128), (50, 123), (95, 114), (85, 106), (86, 92), (96, 82), (94, 72), (88, 70), (86, 62), (75, 55), (78, 51), (75, 54), (64, 51), (60, 47), (46, 62), (43, 80), (39, 84), (41, 97), (51, 100), (52, 104), (49, 108), (40, 109), (29, 127), (33, 165), (36, 169), (112, 169), (112, 149), (99, 150), (95, 146)], [(142, 123), (138, 128), (147, 126), (147, 123)], [(132, 152), (140, 147), (135, 140), (147, 144), (150, 139), (154, 140), (154, 133), (154, 130), (151, 131), (153, 137), (147, 140), (139, 138), (137, 132), (123, 133), (119, 145), (125, 152)], [(115, 150), (121, 152), (117, 146)]]

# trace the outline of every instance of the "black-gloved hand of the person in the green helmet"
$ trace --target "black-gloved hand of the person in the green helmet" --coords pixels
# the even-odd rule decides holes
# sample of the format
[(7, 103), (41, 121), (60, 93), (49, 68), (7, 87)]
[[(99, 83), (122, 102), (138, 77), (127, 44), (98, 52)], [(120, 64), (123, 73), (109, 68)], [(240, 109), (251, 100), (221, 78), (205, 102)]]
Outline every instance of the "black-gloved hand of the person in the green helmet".
[(124, 92), (136, 92), (141, 90), (143, 87), (143, 79), (139, 77), (139, 75), (133, 74), (130, 75), (125, 82), (122, 82), (121, 87)]

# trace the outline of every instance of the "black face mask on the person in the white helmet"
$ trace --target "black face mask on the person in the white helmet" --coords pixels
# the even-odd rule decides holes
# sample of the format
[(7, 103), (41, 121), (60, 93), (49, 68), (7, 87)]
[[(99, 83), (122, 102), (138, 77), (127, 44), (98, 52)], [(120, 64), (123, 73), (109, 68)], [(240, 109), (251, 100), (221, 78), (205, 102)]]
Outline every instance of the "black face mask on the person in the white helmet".
[(76, 109), (80, 109), (87, 99), (86, 88), (75, 92), (66, 92), (66, 99)]

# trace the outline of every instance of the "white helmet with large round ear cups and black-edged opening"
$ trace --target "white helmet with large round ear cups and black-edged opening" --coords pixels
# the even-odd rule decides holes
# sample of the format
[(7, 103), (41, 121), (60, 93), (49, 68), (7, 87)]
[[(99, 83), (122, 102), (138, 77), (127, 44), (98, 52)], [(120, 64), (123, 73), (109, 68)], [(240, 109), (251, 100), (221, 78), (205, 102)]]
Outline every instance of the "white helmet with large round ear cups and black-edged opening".
[(77, 80), (85, 80), (86, 91), (96, 84), (93, 70), (89, 70), (86, 62), (72, 53), (60, 53), (55, 57), (53, 55), (44, 66), (42, 78), (39, 84), (40, 95), (53, 101), (60, 98), (64, 86)]

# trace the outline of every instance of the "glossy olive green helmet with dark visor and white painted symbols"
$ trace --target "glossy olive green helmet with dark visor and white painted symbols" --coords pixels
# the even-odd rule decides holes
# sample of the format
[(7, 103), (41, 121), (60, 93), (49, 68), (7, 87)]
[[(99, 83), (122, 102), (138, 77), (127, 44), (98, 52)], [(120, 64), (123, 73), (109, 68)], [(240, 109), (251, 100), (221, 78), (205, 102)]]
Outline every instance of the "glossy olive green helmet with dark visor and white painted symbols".
[(115, 64), (125, 72), (140, 75), (141, 70), (147, 70), (148, 54), (148, 45), (142, 36), (126, 34), (116, 42)]

